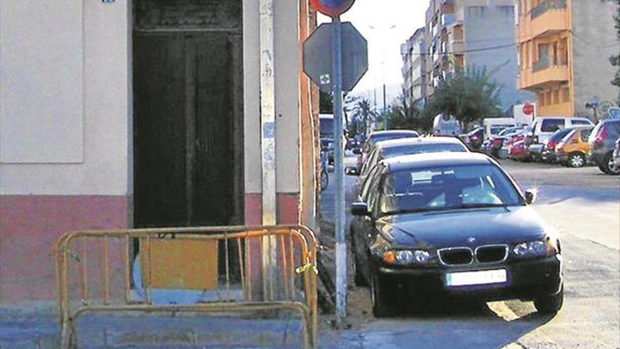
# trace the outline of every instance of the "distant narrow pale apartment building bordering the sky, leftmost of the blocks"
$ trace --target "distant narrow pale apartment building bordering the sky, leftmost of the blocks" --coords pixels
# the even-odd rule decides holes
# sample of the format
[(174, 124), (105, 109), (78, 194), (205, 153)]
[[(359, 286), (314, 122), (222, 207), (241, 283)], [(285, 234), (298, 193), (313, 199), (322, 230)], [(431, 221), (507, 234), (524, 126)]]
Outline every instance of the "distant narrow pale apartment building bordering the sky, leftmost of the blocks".
[(401, 45), (402, 90), (409, 106), (426, 104), (426, 27), (421, 27)]

